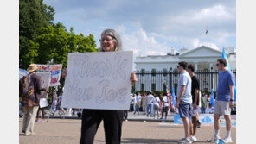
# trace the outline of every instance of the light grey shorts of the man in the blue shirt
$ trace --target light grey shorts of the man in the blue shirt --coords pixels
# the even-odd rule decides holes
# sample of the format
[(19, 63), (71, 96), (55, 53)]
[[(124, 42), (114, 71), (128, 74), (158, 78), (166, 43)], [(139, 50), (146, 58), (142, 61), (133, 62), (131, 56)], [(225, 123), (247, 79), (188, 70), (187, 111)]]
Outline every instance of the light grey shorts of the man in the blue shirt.
[(214, 114), (219, 115), (230, 115), (231, 109), (229, 107), (229, 102), (227, 101), (215, 101), (214, 102)]

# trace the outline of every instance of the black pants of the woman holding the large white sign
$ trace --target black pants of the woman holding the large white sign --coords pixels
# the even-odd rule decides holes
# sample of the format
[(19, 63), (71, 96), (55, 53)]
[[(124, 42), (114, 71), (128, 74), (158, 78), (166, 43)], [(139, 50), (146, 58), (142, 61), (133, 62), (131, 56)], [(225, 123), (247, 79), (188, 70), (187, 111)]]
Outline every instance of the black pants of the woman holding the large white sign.
[(124, 110), (83, 110), (80, 144), (93, 144), (101, 120), (106, 144), (121, 142)]

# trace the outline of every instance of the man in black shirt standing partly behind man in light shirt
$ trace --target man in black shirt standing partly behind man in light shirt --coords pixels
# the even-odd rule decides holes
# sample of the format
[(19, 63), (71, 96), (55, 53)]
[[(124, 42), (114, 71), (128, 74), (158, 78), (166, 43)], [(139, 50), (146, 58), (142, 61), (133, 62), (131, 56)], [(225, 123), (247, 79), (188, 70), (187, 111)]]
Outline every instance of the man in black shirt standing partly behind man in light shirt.
[(193, 106), (191, 107), (191, 116), (192, 116), (192, 123), (193, 127), (190, 127), (190, 133), (191, 135), (191, 141), (197, 141), (195, 134), (196, 134), (196, 128), (198, 124), (198, 111), (200, 110), (199, 108), (199, 79), (195, 77), (195, 66), (193, 64), (190, 64), (188, 66), (188, 72), (189, 76), (191, 77), (192, 80), (192, 88), (191, 88), (191, 95), (192, 95), (192, 103)]

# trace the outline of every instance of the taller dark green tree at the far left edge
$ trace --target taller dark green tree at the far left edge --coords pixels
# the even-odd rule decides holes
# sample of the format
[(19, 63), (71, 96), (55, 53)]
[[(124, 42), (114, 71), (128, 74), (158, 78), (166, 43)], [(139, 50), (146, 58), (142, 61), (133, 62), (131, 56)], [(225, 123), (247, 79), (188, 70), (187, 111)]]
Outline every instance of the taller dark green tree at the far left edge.
[(35, 45), (38, 30), (48, 24), (53, 24), (54, 14), (54, 9), (43, 4), (42, 0), (19, 1), (19, 62), (21, 68), (25, 69), (29, 63), (34, 62), (33, 58), (38, 48)]

